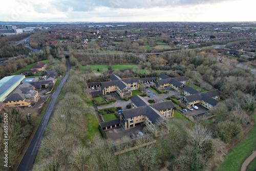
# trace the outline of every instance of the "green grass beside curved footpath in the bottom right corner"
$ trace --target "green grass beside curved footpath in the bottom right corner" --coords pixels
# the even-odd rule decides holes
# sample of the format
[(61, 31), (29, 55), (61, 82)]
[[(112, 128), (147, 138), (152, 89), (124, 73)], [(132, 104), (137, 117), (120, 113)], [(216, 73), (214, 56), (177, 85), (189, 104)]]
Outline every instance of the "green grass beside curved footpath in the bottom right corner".
[[(256, 122), (256, 115), (253, 115)], [(218, 171), (238, 171), (241, 170), (243, 162), (251, 155), (251, 151), (256, 149), (256, 125), (254, 124), (248, 135), (235, 146), (233, 146), (218, 167)], [(254, 168), (255, 169), (255, 168)]]

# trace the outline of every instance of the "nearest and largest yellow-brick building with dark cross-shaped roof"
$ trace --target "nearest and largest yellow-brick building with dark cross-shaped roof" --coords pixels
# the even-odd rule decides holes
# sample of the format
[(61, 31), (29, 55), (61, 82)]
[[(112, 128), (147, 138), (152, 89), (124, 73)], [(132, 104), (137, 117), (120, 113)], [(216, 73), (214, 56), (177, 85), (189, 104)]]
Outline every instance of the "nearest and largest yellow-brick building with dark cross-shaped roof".
[(154, 126), (159, 121), (174, 117), (174, 104), (172, 101), (150, 104), (141, 96), (134, 96), (132, 100), (132, 109), (124, 110), (120, 121), (125, 129), (130, 129), (136, 124), (145, 124)]

